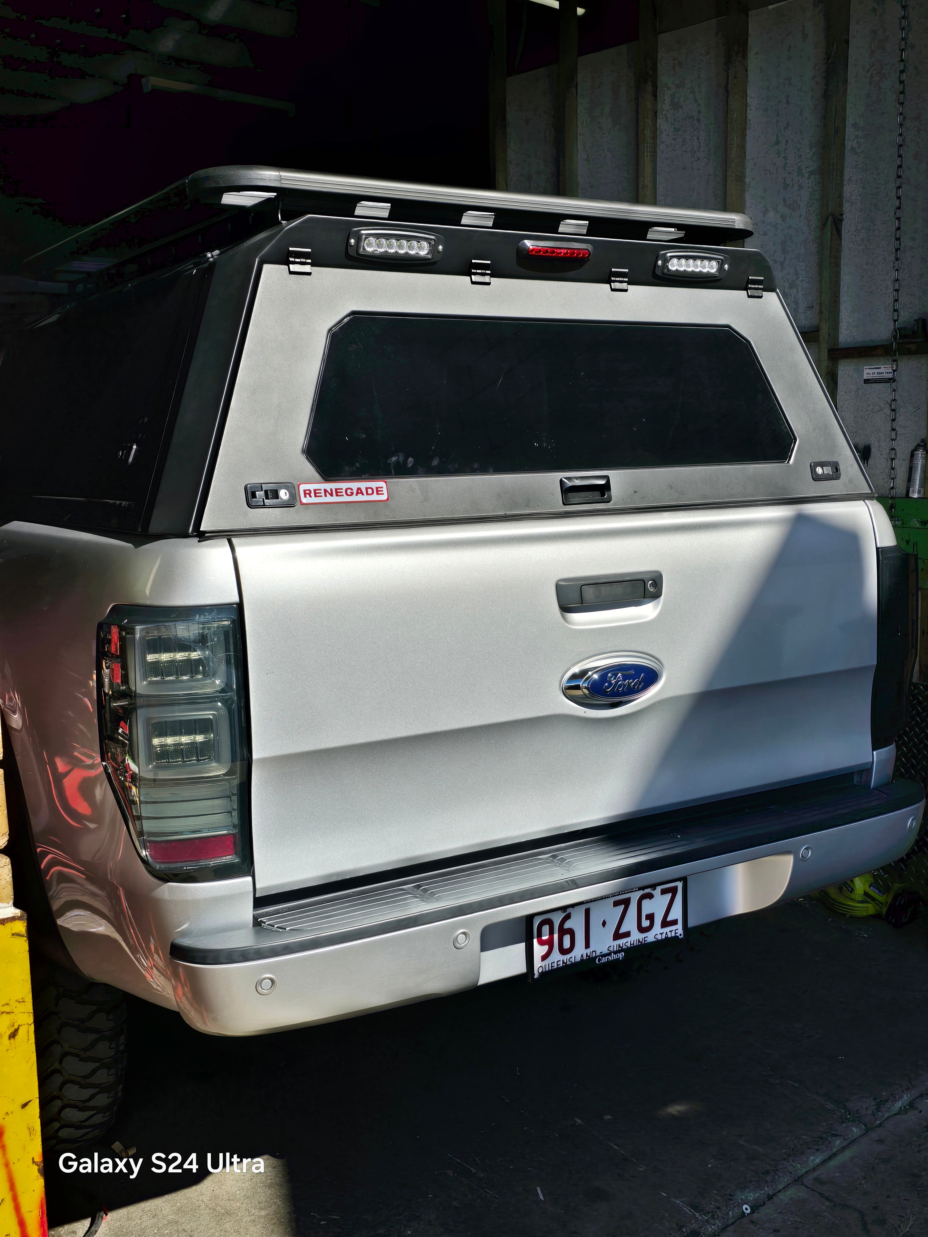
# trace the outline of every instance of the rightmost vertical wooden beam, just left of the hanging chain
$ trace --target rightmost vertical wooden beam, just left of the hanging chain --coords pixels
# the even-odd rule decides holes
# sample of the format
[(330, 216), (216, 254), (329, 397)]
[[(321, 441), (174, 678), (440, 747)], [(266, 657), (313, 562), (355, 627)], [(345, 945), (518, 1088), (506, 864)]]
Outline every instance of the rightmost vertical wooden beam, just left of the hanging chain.
[(838, 401), (841, 233), (844, 231), (844, 146), (848, 125), (850, 0), (825, 0), (825, 132), (822, 157), (822, 252), (819, 255), (818, 372)]

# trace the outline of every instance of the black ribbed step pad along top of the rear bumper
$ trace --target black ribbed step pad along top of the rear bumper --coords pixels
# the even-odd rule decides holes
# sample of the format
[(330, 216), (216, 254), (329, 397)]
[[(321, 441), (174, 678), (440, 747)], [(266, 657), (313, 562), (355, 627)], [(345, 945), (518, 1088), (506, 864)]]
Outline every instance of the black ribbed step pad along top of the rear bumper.
[[(923, 798), (914, 782), (869, 789), (846, 782), (835, 785), (829, 779), (663, 813), (626, 821), (595, 837), (265, 908), (251, 929), (176, 939), (171, 956), (197, 966), (271, 961), (448, 919), (505, 912), (539, 898), (563, 896), (572, 901), (577, 891), (591, 886), (657, 872), (663, 880), (671, 868), (705, 868), (711, 866), (707, 861), (723, 856), (758, 847), (772, 854), (780, 844), (797, 837), (900, 813), (911, 815)], [(872, 865), (877, 862), (874, 858)], [(854, 875), (850, 868), (834, 880), (849, 875)], [(505, 915), (494, 915), (500, 918)]]

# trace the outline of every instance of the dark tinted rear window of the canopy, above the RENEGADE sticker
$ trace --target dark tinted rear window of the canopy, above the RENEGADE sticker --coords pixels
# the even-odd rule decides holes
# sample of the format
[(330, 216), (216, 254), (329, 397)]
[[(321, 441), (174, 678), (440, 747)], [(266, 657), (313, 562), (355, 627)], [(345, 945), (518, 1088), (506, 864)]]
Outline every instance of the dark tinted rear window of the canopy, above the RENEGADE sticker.
[(329, 336), (307, 455), (323, 476), (786, 460), (793, 437), (726, 327), (354, 314)]

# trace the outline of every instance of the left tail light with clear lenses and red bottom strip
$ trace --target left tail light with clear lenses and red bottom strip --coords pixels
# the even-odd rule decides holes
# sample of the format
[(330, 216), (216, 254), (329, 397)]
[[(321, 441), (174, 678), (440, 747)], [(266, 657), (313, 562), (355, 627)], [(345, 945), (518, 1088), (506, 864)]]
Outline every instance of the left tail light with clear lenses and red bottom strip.
[(174, 880), (246, 871), (238, 609), (114, 606), (97, 632), (103, 763), (142, 860)]

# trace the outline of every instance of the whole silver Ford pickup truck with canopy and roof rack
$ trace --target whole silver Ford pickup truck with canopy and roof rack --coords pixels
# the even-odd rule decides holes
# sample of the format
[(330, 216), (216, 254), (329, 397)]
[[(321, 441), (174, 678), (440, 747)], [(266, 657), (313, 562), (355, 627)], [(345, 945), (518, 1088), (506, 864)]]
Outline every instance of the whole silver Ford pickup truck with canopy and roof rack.
[[(36, 255), (0, 691), (51, 1144), (901, 856), (914, 621), (744, 215), (212, 168)], [(641, 956), (641, 955), (636, 955)]]

